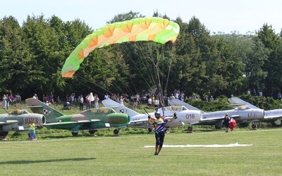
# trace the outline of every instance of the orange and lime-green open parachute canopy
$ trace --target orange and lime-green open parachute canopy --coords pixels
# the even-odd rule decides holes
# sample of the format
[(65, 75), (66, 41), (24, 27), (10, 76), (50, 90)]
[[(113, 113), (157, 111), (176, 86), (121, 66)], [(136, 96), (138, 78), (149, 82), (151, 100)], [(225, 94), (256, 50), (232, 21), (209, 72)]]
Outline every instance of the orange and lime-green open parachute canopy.
[(163, 18), (135, 18), (120, 23), (112, 23), (89, 34), (76, 46), (66, 59), (61, 70), (62, 77), (73, 77), (80, 63), (96, 48), (109, 44), (137, 41), (154, 41), (165, 44), (175, 42), (179, 33), (179, 25)]

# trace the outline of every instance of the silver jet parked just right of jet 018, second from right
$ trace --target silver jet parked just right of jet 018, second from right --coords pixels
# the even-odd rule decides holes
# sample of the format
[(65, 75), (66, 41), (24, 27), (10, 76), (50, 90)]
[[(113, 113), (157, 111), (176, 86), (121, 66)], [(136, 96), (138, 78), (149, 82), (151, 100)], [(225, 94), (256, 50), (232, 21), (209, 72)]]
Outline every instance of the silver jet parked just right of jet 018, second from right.
[[(187, 108), (200, 111), (200, 109), (195, 108), (190, 104), (180, 101), (178, 99), (171, 99), (168, 103), (170, 103), (171, 105), (182, 105)], [(264, 120), (263, 109), (255, 108), (254, 106), (250, 106), (250, 104), (247, 103), (234, 103), (231, 104), (231, 106), (233, 106), (234, 108), (226, 111), (214, 111), (210, 113), (202, 111), (202, 120), (200, 120), (195, 125), (215, 125), (216, 129), (220, 129), (221, 122), (226, 113), (228, 113), (229, 116), (235, 119), (237, 123), (257, 122)]]

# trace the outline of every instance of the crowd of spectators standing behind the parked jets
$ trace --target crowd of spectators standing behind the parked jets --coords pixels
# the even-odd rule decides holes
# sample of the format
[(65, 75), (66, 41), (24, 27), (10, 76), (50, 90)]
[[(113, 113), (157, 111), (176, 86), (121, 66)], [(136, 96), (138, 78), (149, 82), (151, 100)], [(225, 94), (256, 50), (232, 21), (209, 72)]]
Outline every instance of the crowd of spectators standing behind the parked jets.
[[(247, 94), (252, 94), (253, 96), (263, 96), (263, 93), (261, 90), (256, 91), (256, 89), (248, 89)], [(78, 96), (75, 95), (75, 93), (72, 93), (70, 96), (69, 94), (66, 94), (66, 97), (64, 100), (61, 100), (60, 96), (56, 96), (54, 98), (54, 94), (43, 94), (42, 99), (39, 99), (37, 94), (33, 95), (33, 98), (39, 99), (44, 103), (52, 104), (52, 103), (61, 103), (62, 101), (66, 101), (69, 103), (78, 103), (78, 98), (82, 94), (79, 94)], [(104, 99), (112, 99), (118, 103), (121, 103), (123, 105), (123, 102), (133, 103), (134, 108), (137, 108), (140, 103), (147, 103), (149, 108), (159, 108), (161, 106), (167, 106), (168, 101), (170, 99), (179, 99), (180, 101), (185, 101), (185, 99), (191, 99), (191, 100), (204, 100), (204, 101), (214, 101), (216, 98), (214, 98), (212, 95), (204, 94), (202, 98), (198, 94), (192, 94), (190, 96), (187, 96), (183, 91), (180, 91), (179, 89), (175, 89), (170, 96), (168, 94), (162, 96), (161, 94), (155, 94), (150, 92), (142, 92), (133, 94), (129, 96), (125, 93), (118, 93), (118, 94), (109, 94), (106, 92), (104, 94), (104, 97), (102, 99), (99, 99), (98, 94), (94, 94), (94, 98), (91, 99), (91, 101), (88, 99), (90, 94), (87, 94), (85, 96), (85, 99), (83, 100), (83, 103), (87, 103), (87, 108), (90, 108), (93, 104), (94, 108), (99, 108), (99, 103)], [(233, 95), (231, 95), (233, 96)], [(83, 97), (83, 96), (82, 96)], [(281, 91), (278, 91), (277, 93), (277, 99), (282, 100)], [(16, 94), (15, 96), (13, 94), (4, 94), (2, 97), (3, 100), (3, 108), (8, 108), (9, 103), (16, 103), (21, 102), (21, 96), (19, 94)], [(163, 104), (164, 103), (164, 104)]]

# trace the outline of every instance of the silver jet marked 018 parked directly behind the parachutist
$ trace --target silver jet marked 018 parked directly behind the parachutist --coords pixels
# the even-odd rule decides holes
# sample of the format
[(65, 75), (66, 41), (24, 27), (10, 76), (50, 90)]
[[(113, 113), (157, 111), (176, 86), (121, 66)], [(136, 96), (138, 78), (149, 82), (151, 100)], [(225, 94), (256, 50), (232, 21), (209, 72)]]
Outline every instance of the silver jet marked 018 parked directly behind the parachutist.
[[(152, 115), (154, 117), (154, 112), (147, 114), (137, 113), (136, 111), (133, 111), (132, 109), (111, 99), (105, 99), (102, 103), (104, 106), (111, 107), (117, 112), (130, 115), (131, 121), (130, 124), (128, 124), (128, 127), (148, 128), (149, 132), (152, 132), (153, 126), (148, 125), (148, 115)], [(192, 125), (198, 123), (202, 118), (202, 113), (200, 111), (189, 110), (185, 106), (168, 106), (159, 108), (157, 111), (166, 118), (173, 118), (173, 113), (176, 113), (178, 118), (172, 122), (168, 122), (166, 127), (179, 127), (185, 124)]]

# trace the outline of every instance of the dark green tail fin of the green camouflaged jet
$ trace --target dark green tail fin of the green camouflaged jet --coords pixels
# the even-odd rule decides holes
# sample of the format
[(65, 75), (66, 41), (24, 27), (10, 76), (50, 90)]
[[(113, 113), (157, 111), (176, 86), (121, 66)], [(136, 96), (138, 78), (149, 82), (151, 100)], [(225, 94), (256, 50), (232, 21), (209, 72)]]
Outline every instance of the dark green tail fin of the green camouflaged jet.
[(28, 105), (27, 108), (30, 108), (33, 113), (43, 114), (46, 117), (47, 123), (56, 122), (56, 118), (64, 115), (63, 113), (57, 111), (51, 106), (48, 106), (42, 101), (39, 101), (38, 99), (25, 99), (25, 102)]

